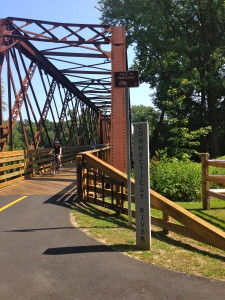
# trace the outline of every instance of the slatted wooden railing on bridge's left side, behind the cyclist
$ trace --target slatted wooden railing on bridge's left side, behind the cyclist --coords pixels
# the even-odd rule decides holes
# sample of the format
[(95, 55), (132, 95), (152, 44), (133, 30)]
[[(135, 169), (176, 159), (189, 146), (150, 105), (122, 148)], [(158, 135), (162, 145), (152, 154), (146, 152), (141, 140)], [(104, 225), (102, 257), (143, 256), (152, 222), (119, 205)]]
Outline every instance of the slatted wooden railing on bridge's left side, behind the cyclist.
[[(74, 162), (77, 153), (89, 148), (89, 146), (63, 148), (62, 164)], [(0, 188), (49, 171), (52, 162), (49, 151), (50, 149), (0, 152)]]

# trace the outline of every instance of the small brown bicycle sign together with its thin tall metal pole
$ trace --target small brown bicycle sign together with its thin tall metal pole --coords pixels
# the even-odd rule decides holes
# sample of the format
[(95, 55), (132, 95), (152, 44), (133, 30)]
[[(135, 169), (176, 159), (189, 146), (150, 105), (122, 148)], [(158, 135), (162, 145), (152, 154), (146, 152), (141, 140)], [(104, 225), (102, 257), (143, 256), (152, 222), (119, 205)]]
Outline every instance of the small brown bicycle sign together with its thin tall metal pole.
[(128, 225), (132, 226), (132, 210), (131, 210), (131, 159), (130, 159), (130, 97), (129, 88), (139, 86), (138, 71), (115, 72), (115, 87), (125, 88), (126, 94), (126, 146), (127, 146), (127, 197), (128, 197)]

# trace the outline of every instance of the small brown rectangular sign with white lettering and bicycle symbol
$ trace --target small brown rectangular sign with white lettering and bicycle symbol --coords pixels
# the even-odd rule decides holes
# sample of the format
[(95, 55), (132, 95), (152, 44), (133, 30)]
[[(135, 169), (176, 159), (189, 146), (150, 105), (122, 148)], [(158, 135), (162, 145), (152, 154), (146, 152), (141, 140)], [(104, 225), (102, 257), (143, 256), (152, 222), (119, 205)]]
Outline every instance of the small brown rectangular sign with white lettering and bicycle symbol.
[(139, 72), (136, 70), (115, 72), (114, 74), (116, 88), (129, 88), (139, 86)]

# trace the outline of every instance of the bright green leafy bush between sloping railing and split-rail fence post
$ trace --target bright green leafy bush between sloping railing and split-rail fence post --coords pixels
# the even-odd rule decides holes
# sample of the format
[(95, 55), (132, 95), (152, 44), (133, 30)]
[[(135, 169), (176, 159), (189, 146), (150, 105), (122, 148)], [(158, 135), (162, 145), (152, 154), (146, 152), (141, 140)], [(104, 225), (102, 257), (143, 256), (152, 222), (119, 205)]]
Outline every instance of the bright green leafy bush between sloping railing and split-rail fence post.
[(190, 160), (168, 159), (151, 162), (151, 188), (172, 201), (201, 200), (201, 164)]

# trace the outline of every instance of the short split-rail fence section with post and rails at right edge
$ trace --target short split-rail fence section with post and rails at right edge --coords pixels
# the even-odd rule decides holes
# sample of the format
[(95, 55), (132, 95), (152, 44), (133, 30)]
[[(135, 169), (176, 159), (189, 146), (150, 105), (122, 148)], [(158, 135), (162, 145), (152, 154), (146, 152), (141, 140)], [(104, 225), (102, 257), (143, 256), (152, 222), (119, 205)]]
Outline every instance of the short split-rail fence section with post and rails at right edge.
[(209, 166), (224, 168), (225, 160), (210, 160), (207, 153), (201, 155), (202, 162), (202, 202), (203, 209), (210, 209), (210, 197), (225, 200), (225, 189), (210, 189), (209, 182), (225, 185), (225, 175), (210, 175)]

